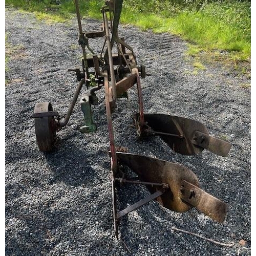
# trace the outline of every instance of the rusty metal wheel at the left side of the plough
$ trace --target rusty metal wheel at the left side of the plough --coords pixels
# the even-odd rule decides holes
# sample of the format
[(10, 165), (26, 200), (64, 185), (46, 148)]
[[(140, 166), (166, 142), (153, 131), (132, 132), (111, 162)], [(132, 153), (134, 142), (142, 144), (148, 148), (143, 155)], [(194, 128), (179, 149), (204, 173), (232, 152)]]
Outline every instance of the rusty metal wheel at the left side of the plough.
[[(40, 102), (35, 104), (34, 113), (46, 113), (52, 111), (50, 102)], [(35, 135), (39, 150), (42, 152), (51, 152), (54, 148), (56, 130), (53, 116), (36, 117)]]

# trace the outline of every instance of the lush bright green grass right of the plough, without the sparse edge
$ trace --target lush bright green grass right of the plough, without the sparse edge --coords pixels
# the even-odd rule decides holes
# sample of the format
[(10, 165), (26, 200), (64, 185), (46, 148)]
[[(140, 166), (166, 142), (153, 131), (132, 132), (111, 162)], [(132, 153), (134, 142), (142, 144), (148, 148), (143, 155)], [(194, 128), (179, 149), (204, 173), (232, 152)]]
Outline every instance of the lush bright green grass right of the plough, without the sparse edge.
[[(135, 24), (143, 30), (152, 29), (156, 33), (177, 34), (196, 45), (194, 49), (190, 46), (188, 53), (192, 55), (200, 51), (224, 50), (230, 52), (233, 58), (249, 60), (251, 50), (249, 7), (244, 3), (229, 4), (230, 9), (233, 8), (231, 12), (230, 9), (225, 9), (226, 6), (227, 4), (209, 4), (203, 9), (184, 10), (172, 17), (154, 13), (145, 15), (140, 12), (129, 15), (127, 9), (121, 21)], [(216, 13), (219, 13), (219, 16)]]

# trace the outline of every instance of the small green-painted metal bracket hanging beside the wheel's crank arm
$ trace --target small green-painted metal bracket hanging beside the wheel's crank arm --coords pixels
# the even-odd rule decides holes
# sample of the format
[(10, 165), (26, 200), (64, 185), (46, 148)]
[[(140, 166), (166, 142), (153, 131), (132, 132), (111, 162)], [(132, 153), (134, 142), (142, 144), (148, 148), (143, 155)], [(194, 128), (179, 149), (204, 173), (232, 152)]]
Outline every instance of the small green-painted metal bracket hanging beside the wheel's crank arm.
[(81, 110), (84, 117), (84, 124), (79, 129), (81, 133), (91, 133), (97, 130), (93, 121), (90, 96), (91, 95), (83, 95), (80, 100)]

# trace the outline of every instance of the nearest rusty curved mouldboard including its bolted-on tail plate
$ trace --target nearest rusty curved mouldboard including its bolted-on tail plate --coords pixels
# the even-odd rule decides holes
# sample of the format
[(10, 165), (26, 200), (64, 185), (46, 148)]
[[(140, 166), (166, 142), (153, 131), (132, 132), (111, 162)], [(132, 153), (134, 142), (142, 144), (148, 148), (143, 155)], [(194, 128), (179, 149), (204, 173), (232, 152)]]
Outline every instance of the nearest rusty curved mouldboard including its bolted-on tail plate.
[[(227, 212), (226, 203), (203, 191), (199, 187), (196, 175), (190, 169), (135, 154), (117, 152), (117, 158), (121, 164), (129, 166), (138, 175), (143, 182), (137, 183), (144, 183), (152, 194), (158, 191), (157, 187), (160, 184), (168, 185), (169, 189), (157, 197), (157, 201), (164, 207), (184, 212), (194, 206), (213, 220), (224, 221)], [(159, 183), (151, 184), (151, 182)]]

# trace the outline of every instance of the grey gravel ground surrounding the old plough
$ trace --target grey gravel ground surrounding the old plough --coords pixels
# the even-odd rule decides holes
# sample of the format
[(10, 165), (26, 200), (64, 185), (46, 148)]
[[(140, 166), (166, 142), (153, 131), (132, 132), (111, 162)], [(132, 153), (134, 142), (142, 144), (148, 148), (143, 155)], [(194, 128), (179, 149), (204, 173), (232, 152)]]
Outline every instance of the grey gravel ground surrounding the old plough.
[[(93, 19), (82, 23), (84, 30), (101, 24)], [(77, 31), (75, 18), (49, 25), (32, 14), (6, 10), (12, 46), (6, 72), (6, 255), (250, 255), (250, 89), (241, 87), (250, 80), (218, 65), (196, 74), (181, 39), (120, 28), (151, 74), (142, 80), (145, 112), (201, 121), (232, 147), (226, 158), (207, 151), (182, 156), (157, 137), (139, 142), (132, 120), (137, 93), (130, 89), (129, 99), (118, 100), (113, 114), (116, 145), (190, 168), (204, 190), (228, 204), (228, 213), (219, 224), (195, 208), (180, 214), (151, 202), (123, 217), (123, 242), (117, 241), (103, 90), (100, 104), (93, 106), (97, 132), (78, 131), (83, 118), (77, 103), (66, 129), (58, 133), (58, 150), (43, 154), (35, 140), (35, 103), (50, 101), (64, 115), (74, 94), (77, 81), (67, 70), (80, 67)], [(101, 40), (90, 42), (100, 49)], [(144, 187), (124, 186), (120, 207), (146, 195)], [(172, 227), (235, 245), (220, 246)], [(241, 239), (247, 242), (243, 247)]]

